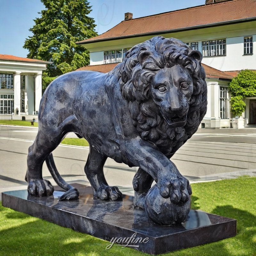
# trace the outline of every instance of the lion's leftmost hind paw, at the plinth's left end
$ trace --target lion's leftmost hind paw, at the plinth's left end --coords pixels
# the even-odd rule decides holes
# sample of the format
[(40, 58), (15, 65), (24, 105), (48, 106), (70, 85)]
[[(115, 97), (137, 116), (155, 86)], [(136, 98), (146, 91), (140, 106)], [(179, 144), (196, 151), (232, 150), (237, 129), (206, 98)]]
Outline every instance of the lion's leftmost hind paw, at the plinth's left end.
[(30, 196), (52, 196), (54, 188), (48, 180), (31, 180), (28, 184), (28, 194)]

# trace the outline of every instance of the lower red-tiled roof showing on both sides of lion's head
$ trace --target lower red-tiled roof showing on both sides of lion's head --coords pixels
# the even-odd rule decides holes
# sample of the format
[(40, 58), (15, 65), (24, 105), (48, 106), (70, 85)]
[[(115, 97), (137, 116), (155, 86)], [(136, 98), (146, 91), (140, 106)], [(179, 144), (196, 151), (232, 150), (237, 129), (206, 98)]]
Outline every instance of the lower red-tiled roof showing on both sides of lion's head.
[[(111, 71), (113, 68), (115, 68), (117, 64), (118, 63), (85, 66), (82, 68), (78, 68), (76, 70), (91, 70), (91, 71), (107, 73), (107, 72)], [(225, 74), (224, 72), (222, 72), (216, 68), (212, 68), (203, 63), (202, 63), (202, 66), (204, 67), (207, 78), (219, 78), (219, 79), (230, 79), (230, 80), (233, 78), (233, 76)]]

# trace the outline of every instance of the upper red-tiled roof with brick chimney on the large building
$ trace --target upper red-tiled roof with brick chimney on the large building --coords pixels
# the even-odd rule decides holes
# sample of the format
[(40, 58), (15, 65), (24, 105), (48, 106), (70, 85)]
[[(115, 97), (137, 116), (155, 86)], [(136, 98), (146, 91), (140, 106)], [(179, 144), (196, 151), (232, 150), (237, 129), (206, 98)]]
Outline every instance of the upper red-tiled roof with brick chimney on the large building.
[(186, 30), (197, 26), (212, 26), (225, 22), (256, 19), (255, 0), (230, 0), (216, 4), (200, 5), (187, 9), (165, 12), (132, 20), (123, 20), (114, 28), (100, 36), (95, 36), (78, 44), (111, 40), (113, 38), (138, 35), (156, 35), (172, 30)]

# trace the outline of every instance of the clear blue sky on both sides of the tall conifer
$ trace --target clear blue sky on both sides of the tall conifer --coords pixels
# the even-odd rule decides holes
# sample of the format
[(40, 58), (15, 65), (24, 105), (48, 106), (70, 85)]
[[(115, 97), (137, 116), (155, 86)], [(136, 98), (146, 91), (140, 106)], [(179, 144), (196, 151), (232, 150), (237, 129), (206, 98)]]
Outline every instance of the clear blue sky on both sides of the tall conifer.
[[(132, 12), (133, 18), (161, 12), (202, 5), (205, 0), (89, 0), (92, 12), (89, 16), (97, 24), (98, 34), (106, 32), (124, 20), (125, 12)], [(40, 17), (44, 5), (40, 0), (0, 0), (0, 53), (27, 57), (24, 41), (32, 36), (34, 19)]]

